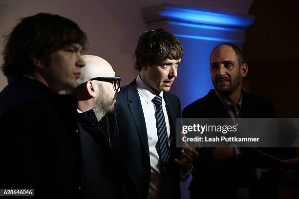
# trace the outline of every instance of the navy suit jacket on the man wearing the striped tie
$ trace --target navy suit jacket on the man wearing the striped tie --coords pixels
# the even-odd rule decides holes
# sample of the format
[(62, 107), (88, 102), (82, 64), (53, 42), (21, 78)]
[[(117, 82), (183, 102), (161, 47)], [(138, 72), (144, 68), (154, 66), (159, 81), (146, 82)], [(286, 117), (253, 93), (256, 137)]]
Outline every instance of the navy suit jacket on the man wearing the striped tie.
[[(176, 148), (176, 118), (181, 118), (181, 104), (177, 97), (164, 92), (167, 113), (170, 121), (171, 135), (174, 139), (170, 146), (171, 162), (179, 158)], [(148, 135), (138, 95), (136, 80), (121, 88), (117, 94), (116, 117), (119, 127), (121, 155), (128, 171), (133, 187), (128, 187), (128, 198), (147, 199), (149, 192), (150, 161)], [(180, 199), (180, 183), (178, 167), (173, 163), (175, 197)], [(137, 193), (137, 196), (136, 194)], [(135, 196), (130, 196), (135, 195)]]

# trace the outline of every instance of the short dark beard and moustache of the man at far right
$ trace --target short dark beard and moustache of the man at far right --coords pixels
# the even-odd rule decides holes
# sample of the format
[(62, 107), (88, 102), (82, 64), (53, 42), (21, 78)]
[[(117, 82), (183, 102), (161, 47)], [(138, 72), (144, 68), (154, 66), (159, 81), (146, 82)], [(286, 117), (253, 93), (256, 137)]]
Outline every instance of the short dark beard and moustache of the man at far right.
[[(227, 88), (219, 86), (217, 84), (217, 82), (219, 80), (228, 80), (230, 82), (229, 86)], [(216, 80), (213, 81), (213, 85), (215, 90), (220, 94), (220, 95), (224, 95), (224, 96), (229, 96), (231, 94), (233, 94), (235, 92), (235, 90), (237, 89), (237, 87), (239, 86), (241, 82), (241, 74), (239, 74), (235, 79), (231, 80), (230, 78), (226, 78), (226, 77), (221, 77), (221, 78), (217, 78)]]

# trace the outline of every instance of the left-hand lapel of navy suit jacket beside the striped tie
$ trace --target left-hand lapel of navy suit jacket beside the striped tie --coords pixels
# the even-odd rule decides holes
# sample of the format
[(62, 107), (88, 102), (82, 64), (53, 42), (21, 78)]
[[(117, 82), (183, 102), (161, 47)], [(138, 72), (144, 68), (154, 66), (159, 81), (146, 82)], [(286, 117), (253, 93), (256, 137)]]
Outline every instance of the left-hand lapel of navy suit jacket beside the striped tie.
[(128, 85), (128, 100), (131, 101), (131, 103), (129, 104), (129, 109), (134, 119), (135, 126), (137, 128), (137, 132), (139, 135), (139, 139), (141, 140), (145, 148), (145, 151), (147, 153), (147, 156), (149, 158), (148, 133), (147, 133), (146, 123), (144, 119), (140, 98), (136, 87), (136, 80), (134, 80)]

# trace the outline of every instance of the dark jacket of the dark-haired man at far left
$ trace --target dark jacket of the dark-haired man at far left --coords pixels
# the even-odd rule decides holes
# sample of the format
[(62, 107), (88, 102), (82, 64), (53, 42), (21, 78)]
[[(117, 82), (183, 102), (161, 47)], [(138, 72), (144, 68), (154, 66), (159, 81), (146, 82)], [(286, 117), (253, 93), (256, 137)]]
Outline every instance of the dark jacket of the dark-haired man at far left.
[(0, 188), (34, 188), (40, 199), (79, 198), (76, 98), (30, 78), (8, 83), (0, 93)]

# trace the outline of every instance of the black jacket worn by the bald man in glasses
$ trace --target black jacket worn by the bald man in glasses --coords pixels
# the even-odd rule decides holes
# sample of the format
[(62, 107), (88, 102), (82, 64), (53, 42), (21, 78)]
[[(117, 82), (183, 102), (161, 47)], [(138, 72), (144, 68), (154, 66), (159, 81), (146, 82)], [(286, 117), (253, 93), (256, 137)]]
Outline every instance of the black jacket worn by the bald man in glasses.
[(93, 110), (78, 114), (86, 199), (125, 199), (115, 114), (99, 122)]

